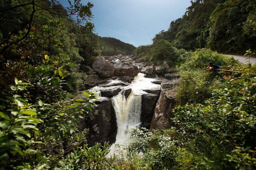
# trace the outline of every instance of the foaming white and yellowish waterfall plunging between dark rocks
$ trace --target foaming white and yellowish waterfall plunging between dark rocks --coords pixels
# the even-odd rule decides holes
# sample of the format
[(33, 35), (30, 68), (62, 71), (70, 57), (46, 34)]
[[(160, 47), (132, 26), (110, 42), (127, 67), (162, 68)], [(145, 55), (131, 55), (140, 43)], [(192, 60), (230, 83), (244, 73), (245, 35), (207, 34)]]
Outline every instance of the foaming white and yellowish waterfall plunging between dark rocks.
[[(144, 74), (139, 73), (138, 76), (134, 78), (131, 85), (119, 92), (118, 95), (112, 97), (112, 104), (117, 119), (117, 135), (116, 141), (111, 145), (110, 153), (107, 157), (110, 157), (113, 154), (118, 155), (122, 152), (122, 145), (124, 145), (131, 136), (126, 130), (140, 125), (141, 98), (142, 94), (146, 93), (143, 89), (159, 88), (160, 86), (151, 83), (152, 81), (155, 81), (155, 79), (145, 78), (144, 76)], [(131, 88), (132, 91), (126, 99), (124, 91), (128, 88)], [(118, 148), (116, 147), (116, 144), (119, 144)]]

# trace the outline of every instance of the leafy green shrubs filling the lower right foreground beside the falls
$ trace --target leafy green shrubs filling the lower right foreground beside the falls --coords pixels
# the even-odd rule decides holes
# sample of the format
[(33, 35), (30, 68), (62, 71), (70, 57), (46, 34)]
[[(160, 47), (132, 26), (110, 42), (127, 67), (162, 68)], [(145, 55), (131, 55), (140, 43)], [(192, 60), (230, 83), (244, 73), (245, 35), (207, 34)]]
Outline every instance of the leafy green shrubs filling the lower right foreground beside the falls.
[(202, 104), (173, 110), (178, 128), (133, 129), (118, 169), (255, 169), (256, 67), (224, 76)]

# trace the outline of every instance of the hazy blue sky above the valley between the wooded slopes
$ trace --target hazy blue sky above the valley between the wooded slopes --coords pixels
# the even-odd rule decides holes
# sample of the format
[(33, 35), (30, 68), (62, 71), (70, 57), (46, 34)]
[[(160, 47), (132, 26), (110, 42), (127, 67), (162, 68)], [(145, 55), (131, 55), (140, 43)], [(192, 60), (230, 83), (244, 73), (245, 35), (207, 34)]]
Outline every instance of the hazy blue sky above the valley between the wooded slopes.
[[(66, 0), (60, 0), (66, 6)], [(88, 0), (82, 0), (86, 4)], [(190, 0), (90, 0), (94, 7), (92, 22), (101, 37), (125, 43), (152, 44), (152, 38), (167, 30), (171, 21), (184, 15)]]

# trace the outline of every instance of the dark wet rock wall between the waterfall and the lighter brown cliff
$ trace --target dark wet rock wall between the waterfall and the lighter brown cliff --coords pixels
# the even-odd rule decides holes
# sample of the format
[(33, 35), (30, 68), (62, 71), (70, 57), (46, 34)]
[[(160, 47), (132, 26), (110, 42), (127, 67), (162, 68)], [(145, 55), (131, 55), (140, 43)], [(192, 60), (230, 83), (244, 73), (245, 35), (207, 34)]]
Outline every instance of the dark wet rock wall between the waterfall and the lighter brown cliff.
[(142, 94), (141, 99), (141, 127), (150, 128), (155, 105), (158, 99), (156, 94)]

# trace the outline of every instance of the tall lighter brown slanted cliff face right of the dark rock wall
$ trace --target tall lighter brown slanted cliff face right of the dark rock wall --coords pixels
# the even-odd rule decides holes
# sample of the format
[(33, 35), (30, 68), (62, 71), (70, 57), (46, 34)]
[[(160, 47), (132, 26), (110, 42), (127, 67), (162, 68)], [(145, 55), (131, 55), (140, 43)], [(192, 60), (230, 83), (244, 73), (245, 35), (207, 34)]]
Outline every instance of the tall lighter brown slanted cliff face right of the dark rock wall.
[(174, 123), (170, 119), (174, 116), (172, 109), (176, 105), (176, 89), (174, 85), (162, 83), (161, 93), (156, 103), (150, 130), (169, 129), (171, 126), (174, 126)]

